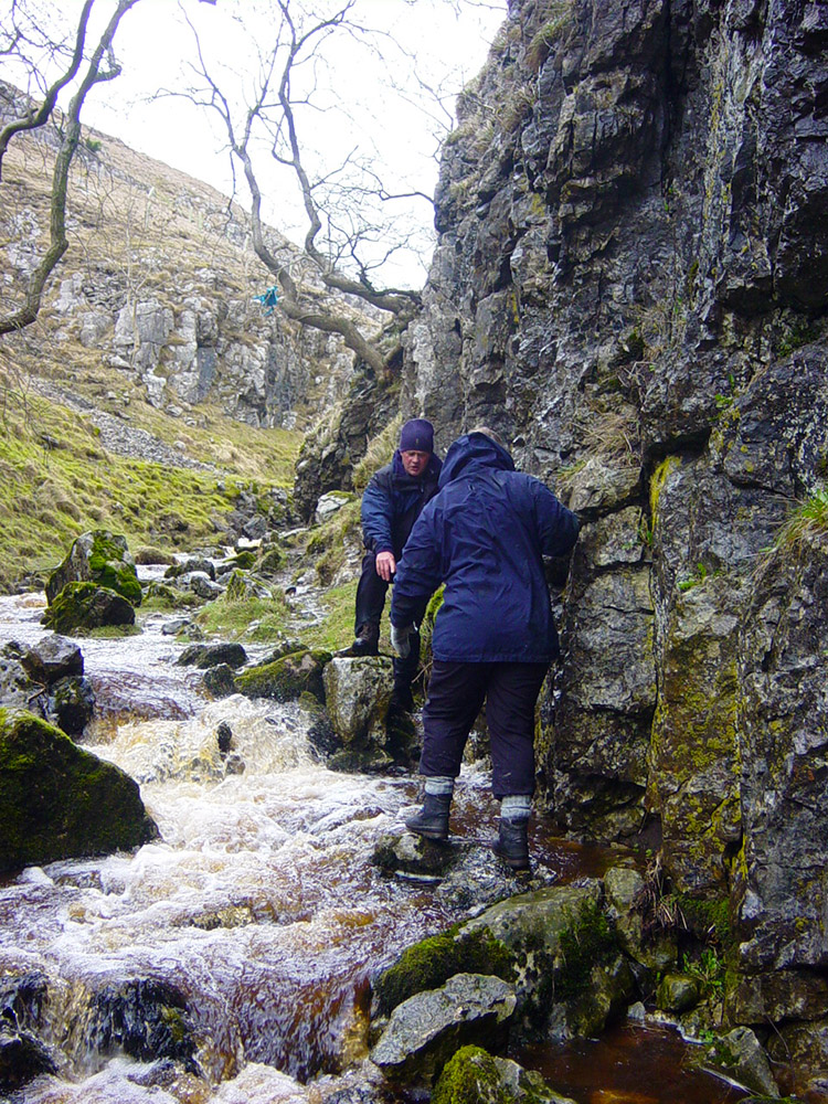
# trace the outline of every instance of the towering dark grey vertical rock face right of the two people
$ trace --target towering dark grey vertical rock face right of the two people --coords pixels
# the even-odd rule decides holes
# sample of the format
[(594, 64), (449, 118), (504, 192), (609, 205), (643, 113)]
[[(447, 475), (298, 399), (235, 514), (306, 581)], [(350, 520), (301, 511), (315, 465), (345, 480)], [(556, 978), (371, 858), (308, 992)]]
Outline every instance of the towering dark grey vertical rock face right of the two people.
[(443, 446), (492, 425), (586, 522), (554, 815), (660, 827), (677, 890), (775, 972), (757, 1022), (828, 963), (826, 511), (783, 527), (828, 475), (826, 43), (805, 0), (513, 0), (407, 335), (403, 407)]

